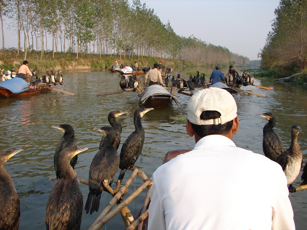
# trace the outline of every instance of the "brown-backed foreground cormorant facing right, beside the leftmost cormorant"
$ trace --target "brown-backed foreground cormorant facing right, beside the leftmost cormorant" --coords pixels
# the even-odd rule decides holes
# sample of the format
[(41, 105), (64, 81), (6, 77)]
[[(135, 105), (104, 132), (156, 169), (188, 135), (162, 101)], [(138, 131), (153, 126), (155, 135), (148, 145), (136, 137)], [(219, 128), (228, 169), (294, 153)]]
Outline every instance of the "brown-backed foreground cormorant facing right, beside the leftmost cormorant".
[(87, 149), (67, 146), (59, 153), (62, 178), (52, 188), (47, 201), (45, 214), (47, 230), (80, 230), (83, 196), (79, 177), (70, 166), (70, 161), (75, 155)]

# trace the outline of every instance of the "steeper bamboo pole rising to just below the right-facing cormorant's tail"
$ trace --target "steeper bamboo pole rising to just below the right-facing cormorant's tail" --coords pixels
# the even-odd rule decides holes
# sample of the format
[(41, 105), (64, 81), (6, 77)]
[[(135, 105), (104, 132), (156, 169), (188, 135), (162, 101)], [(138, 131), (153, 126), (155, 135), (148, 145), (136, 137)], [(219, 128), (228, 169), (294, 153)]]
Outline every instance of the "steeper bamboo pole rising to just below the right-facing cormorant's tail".
[[(116, 202), (122, 197), (122, 194), (127, 190), (129, 185), (131, 184), (133, 178), (138, 173), (138, 169), (135, 168), (131, 175), (129, 176), (126, 183), (121, 187), (121, 189), (115, 194), (115, 196), (112, 198), (112, 200), (106, 205), (105, 209), (100, 213), (99, 217), (96, 218), (94, 223), (88, 228), (89, 230), (95, 229), (94, 226), (97, 226), (97, 224), (102, 223), (101, 220), (104, 219), (104, 217), (110, 212), (112, 207), (116, 204)], [(104, 224), (103, 224), (104, 225)], [(101, 225), (101, 227), (103, 226)], [(98, 228), (99, 229), (99, 228)]]

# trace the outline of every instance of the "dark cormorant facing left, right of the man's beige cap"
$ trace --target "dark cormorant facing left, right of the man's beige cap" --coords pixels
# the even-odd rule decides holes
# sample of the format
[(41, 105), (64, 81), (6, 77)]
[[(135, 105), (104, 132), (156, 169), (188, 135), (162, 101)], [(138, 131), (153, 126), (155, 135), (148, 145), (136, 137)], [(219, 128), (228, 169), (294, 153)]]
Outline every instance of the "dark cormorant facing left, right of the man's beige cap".
[(276, 118), (273, 113), (256, 114), (256, 116), (264, 117), (269, 122), (263, 127), (262, 149), (266, 157), (276, 161), (279, 155), (285, 151), (282, 140), (277, 132), (273, 129), (276, 123)]

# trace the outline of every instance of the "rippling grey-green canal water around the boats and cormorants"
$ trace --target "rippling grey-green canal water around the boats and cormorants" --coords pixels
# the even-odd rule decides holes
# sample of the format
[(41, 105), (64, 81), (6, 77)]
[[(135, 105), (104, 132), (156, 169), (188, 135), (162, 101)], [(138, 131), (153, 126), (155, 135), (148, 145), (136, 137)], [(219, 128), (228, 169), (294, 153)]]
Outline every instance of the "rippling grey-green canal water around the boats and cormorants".
[[(179, 73), (188, 79), (189, 71), (203, 71), (211, 73), (209, 68), (173, 68), (173, 75)], [(223, 72), (227, 73), (227, 69)], [(76, 93), (75, 96), (49, 91), (47, 94), (29, 96), (26, 98), (0, 98), (1, 140), (0, 150), (23, 148), (5, 164), (14, 181), (20, 197), (20, 226), (19, 229), (45, 229), (46, 203), (56, 181), (49, 178), (55, 176), (53, 155), (56, 145), (63, 132), (52, 125), (70, 124), (75, 130), (79, 148), (88, 150), (78, 156), (75, 171), (80, 178), (88, 179), (89, 166), (94, 155), (99, 150), (102, 134), (93, 131), (94, 127), (109, 125), (107, 116), (112, 110), (128, 111), (117, 118), (122, 125), (121, 143), (134, 131), (133, 113), (135, 109), (144, 107), (138, 99), (137, 92), (114, 94), (97, 97), (97, 94), (119, 91), (120, 75), (107, 71), (93, 72), (62, 72), (64, 85), (55, 88)], [(144, 75), (141, 76), (141, 79)], [(206, 77), (208, 78), (208, 77)], [(290, 128), (300, 125), (302, 132), (298, 141), (304, 155), (303, 167), (307, 161), (307, 87), (296, 86), (291, 83), (280, 83), (269, 80), (255, 79), (256, 85), (270, 87), (273, 90), (263, 90), (255, 86), (242, 87), (244, 90), (265, 95), (259, 97), (252, 94), (240, 93), (234, 95), (238, 106), (239, 131), (234, 135), (236, 146), (263, 154), (262, 128), (267, 120), (255, 114), (272, 112), (277, 123), (275, 130), (279, 133), (286, 148), (291, 143)], [(150, 178), (157, 167), (162, 164), (165, 153), (176, 149), (192, 149), (195, 145), (193, 138), (185, 130), (188, 96), (178, 95), (179, 105), (173, 103), (169, 108), (155, 108), (142, 118), (145, 129), (145, 143), (142, 155), (136, 166)], [(182, 118), (181, 121), (174, 117)], [(119, 152), (121, 145), (119, 147)], [(180, 169), (178, 169), (180, 170)], [(259, 165), (261, 170), (261, 165)], [(131, 171), (126, 171), (124, 181)], [(176, 173), (176, 172), (174, 172)], [(115, 175), (117, 180), (119, 171)], [(294, 186), (300, 185), (300, 177)], [(140, 178), (129, 187), (126, 197), (142, 183)], [(219, 183), (219, 182), (217, 182)], [(88, 187), (81, 184), (84, 204), (87, 199)], [(191, 185), (194, 186), (194, 185)], [(263, 185), (263, 192), (270, 190), (271, 185)], [(244, 181), (239, 185), (240, 193), (244, 190)], [(197, 189), (193, 187), (193, 189)], [(138, 215), (146, 191), (143, 191), (128, 207), (133, 215)], [(297, 229), (306, 229), (307, 190), (290, 194)], [(92, 215), (83, 211), (81, 229), (87, 229), (98, 217), (105, 205), (111, 200), (103, 192), (98, 213)], [(103, 227), (105, 229), (105, 226)], [(120, 214), (107, 223), (106, 229), (124, 229)]]

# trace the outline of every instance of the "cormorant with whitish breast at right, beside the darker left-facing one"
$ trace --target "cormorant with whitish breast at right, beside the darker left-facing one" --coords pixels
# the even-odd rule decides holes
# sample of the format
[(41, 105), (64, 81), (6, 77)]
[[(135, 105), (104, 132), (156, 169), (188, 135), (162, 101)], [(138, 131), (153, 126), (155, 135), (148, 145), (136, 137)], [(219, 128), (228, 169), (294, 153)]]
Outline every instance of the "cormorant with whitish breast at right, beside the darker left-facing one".
[(286, 151), (282, 152), (276, 160), (286, 174), (290, 193), (296, 192), (296, 189), (293, 187), (292, 183), (295, 181), (298, 174), (300, 174), (303, 162), (303, 154), (297, 141), (299, 132), (301, 132), (300, 126), (293, 125), (291, 127), (291, 145)]

